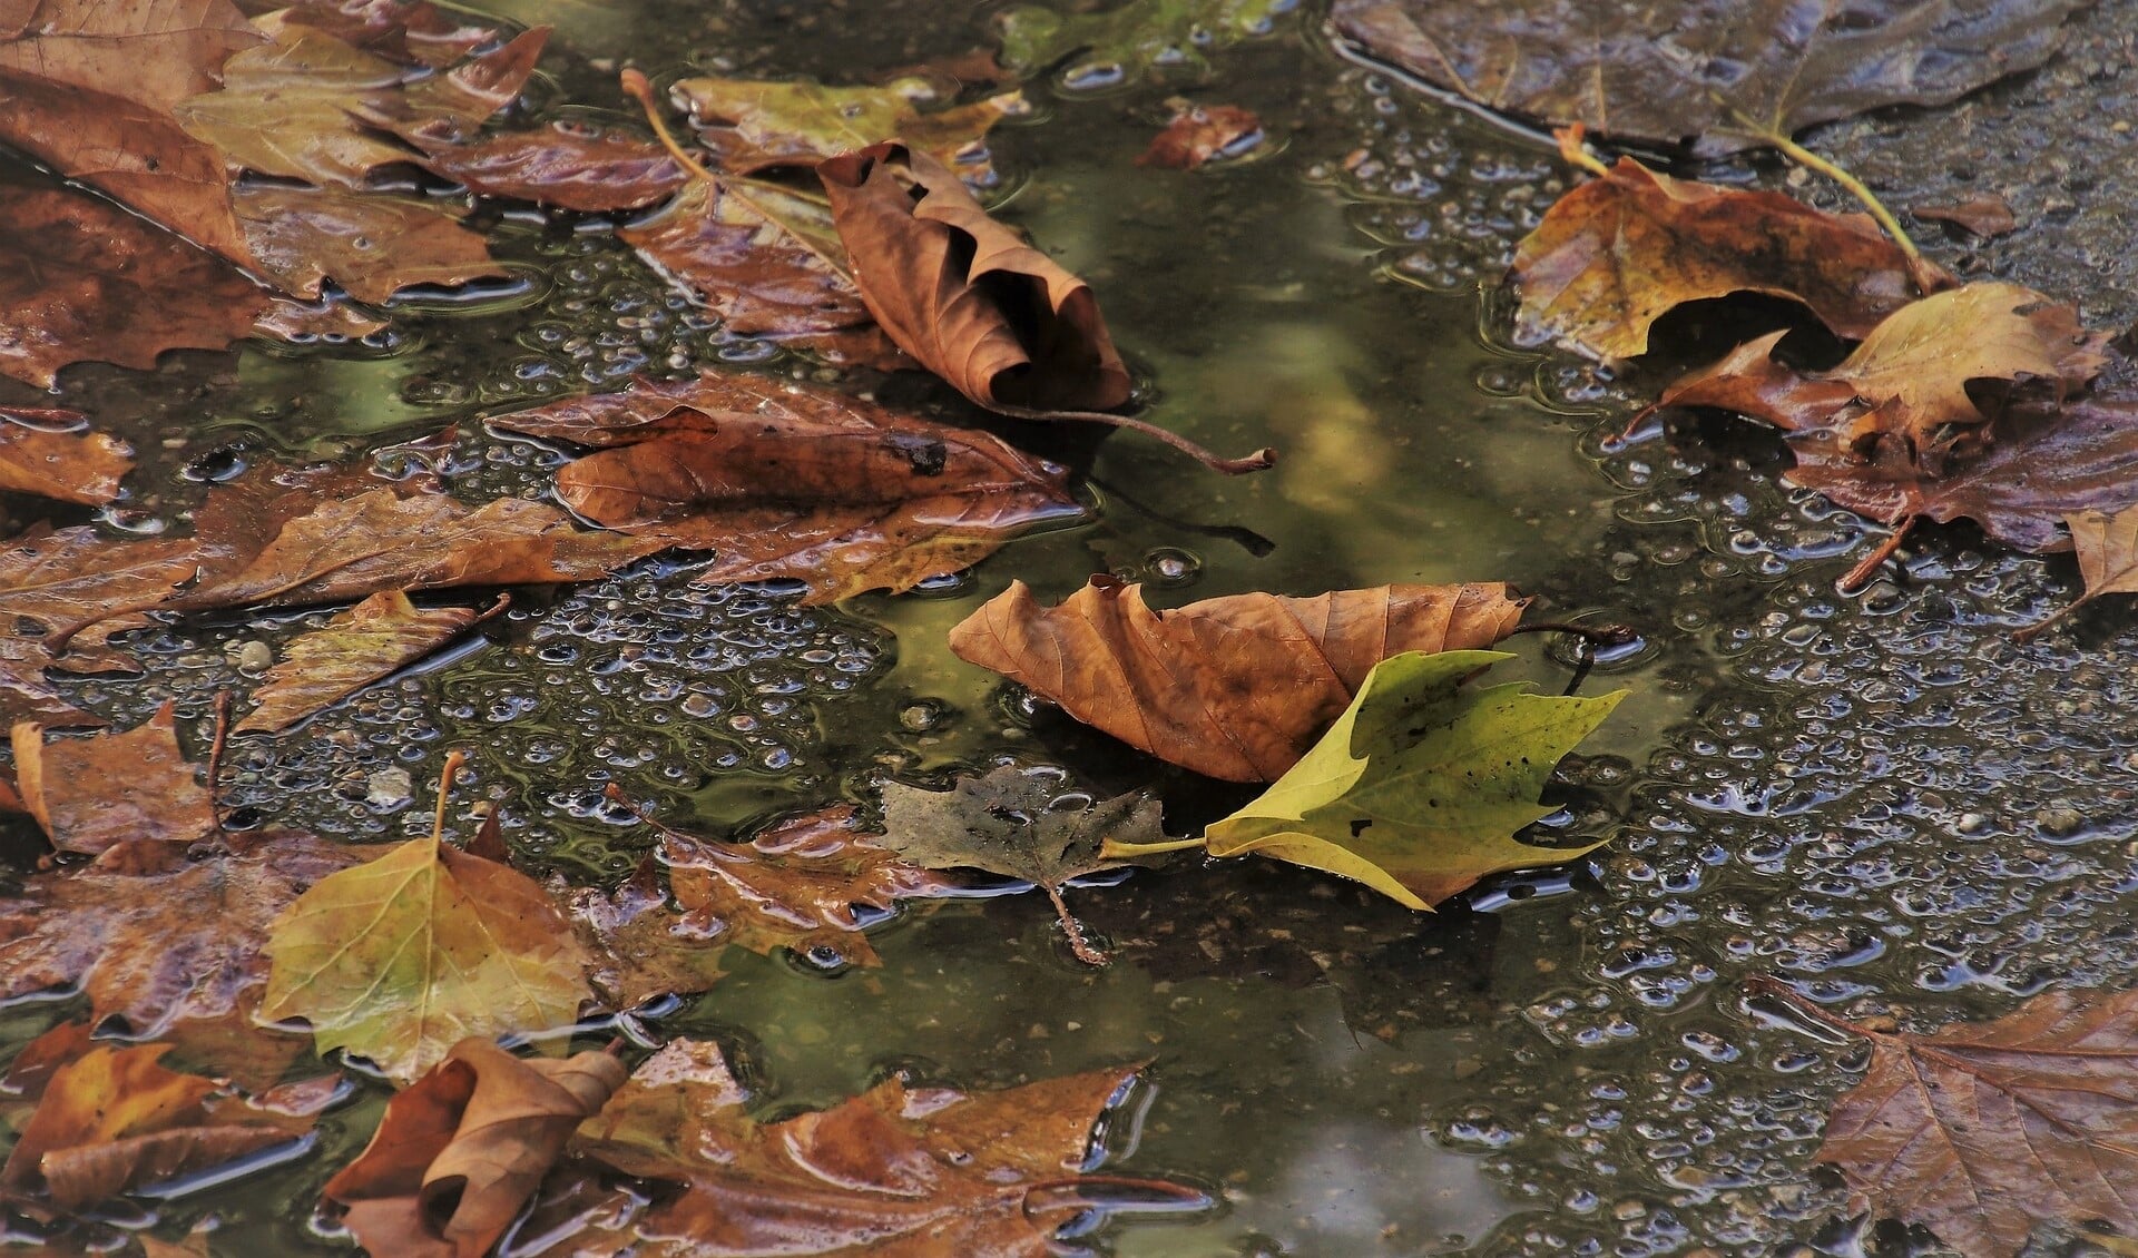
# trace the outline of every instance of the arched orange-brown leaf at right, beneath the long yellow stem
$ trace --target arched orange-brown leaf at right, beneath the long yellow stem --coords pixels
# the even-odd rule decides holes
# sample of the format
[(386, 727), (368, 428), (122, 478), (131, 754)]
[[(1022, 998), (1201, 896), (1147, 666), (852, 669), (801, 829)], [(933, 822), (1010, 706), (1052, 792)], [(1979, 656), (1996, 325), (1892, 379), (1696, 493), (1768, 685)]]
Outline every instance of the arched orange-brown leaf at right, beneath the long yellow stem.
[(1527, 335), (1604, 359), (1644, 355), (1657, 318), (1708, 297), (1802, 301), (1845, 337), (1916, 299), (1909, 258), (1862, 214), (1674, 179), (1631, 158), (1552, 205), (1516, 248), (1514, 280)]

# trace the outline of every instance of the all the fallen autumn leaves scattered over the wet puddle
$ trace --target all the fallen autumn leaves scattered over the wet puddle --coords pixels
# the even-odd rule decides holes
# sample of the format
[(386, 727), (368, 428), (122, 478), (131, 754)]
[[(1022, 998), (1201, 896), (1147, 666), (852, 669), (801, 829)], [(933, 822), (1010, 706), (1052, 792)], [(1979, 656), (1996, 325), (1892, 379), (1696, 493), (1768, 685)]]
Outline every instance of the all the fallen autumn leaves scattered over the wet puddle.
[[(0, 13), (0, 145), (34, 167), (0, 186), (0, 374), (21, 397), (77, 402), (75, 363), (150, 372), (165, 350), (393, 346), (425, 303), (524, 284), (487, 235), (515, 216), (614, 235), (723, 333), (808, 365), (669, 361), (470, 416), (554, 455), (539, 498), (468, 496), (443, 429), (207, 468), (156, 528), (130, 510), (137, 451), (94, 410), (0, 408), (0, 489), (34, 504), (0, 551), (0, 805), (49, 848), (0, 903), (4, 995), (71, 1000), (0, 1081), (11, 1235), (218, 1252), (212, 1220), (173, 1243), (115, 1202), (316, 1160), (323, 1117), (389, 1091), (370, 1145), (316, 1192), (321, 1226), (374, 1254), (1058, 1252), (1114, 1213), (1214, 1207), (1208, 1185), (1107, 1166), (1107, 1128), (1163, 1053), (1122, 1042), (1107, 1070), (1005, 1089), (892, 1072), (772, 1108), (731, 1049), (667, 1036), (663, 1017), (678, 997), (718, 1008), (744, 955), (881, 968), (881, 923), (1020, 889), (1052, 908), (1050, 963), (1118, 965), (1080, 906), (1178, 852), (1259, 854), (1302, 889), (1347, 880), (1428, 914), (1597, 848), (1535, 839), (1565, 814), (1554, 769), (1625, 698), (1578, 696), (1586, 660), (1633, 630), (1541, 622), (1490, 581), (1155, 609), (1112, 572), (1035, 592), (1005, 551), (1093, 519), (1095, 436), (1195, 476), (1253, 476), (1279, 451), (1210, 451), (1137, 414), (1155, 389), (1097, 286), (994, 214), (990, 130), (1035, 111), (1020, 81), (1193, 70), (1289, 9), (1013, 6), (994, 56), (866, 85), (656, 88), (626, 66), (599, 124), (530, 120), (545, 28), (425, 0)], [(1894, 0), (1798, 30), (1783, 4), (1730, 19), (1657, 4), (1606, 38), (1556, 0), (1336, 0), (1332, 30), (1556, 128), (1589, 173), (1514, 256), (1520, 335), (1621, 363), (1668, 350), (1680, 308), (1757, 295), (1770, 301), (1745, 318), (1794, 312), (1651, 410), (1779, 429), (1794, 485), (1890, 525), (1843, 585), (1911, 530), (1967, 519), (2003, 547), (2076, 549), (2091, 600), (2138, 592), (2138, 393), (2112, 329), (2052, 295), (1958, 280), (1798, 145), (1807, 126), (2035, 66), (2072, 9)], [(1657, 58), (1663, 45), (1678, 56)], [(1715, 90), (1693, 62), (1740, 75)], [(1242, 107), (1176, 96), (1137, 164), (1225, 173), (1272, 143)], [(1779, 150), (1869, 214), (1608, 164), (1591, 143)], [(2010, 231), (2001, 209), (1920, 218), (1988, 235)], [(1618, 440), (1668, 431), (1644, 412)], [(1142, 756), (1142, 786), (1107, 797), (1005, 754), (699, 835), (611, 784), (605, 816), (656, 844), (603, 884), (543, 869), (496, 803), (458, 816), (460, 752), (430, 833), (398, 844), (237, 824), (222, 803), (246, 743), (310, 737), (314, 716), (515, 598), (648, 562), (793, 607), (983, 566), (1003, 592), (943, 626), (947, 651)], [(73, 681), (148, 686), (162, 630), (299, 611), (314, 628), (257, 660), (244, 694), (186, 694), (109, 728)], [(1518, 632), (1576, 643), (1567, 694), (1484, 679)], [(182, 737), (182, 705), (212, 720)], [(1204, 820), (1174, 822), (1161, 784)], [(1984, 1256), (2042, 1222), (2110, 1245), (2138, 1235), (2127, 993), (2055, 991), (1909, 1036), (1775, 978), (1753, 987), (1775, 1002), (1762, 1008), (1871, 1042), (1822, 1151), (1852, 1209)]]

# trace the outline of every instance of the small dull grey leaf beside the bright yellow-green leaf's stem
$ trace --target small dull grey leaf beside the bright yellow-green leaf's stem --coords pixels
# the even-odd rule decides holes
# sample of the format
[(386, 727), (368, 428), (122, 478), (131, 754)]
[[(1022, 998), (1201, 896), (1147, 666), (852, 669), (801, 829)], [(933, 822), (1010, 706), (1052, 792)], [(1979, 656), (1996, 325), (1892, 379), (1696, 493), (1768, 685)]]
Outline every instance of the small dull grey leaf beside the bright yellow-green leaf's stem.
[(1058, 773), (1003, 765), (986, 777), (958, 777), (949, 790), (885, 782), (883, 844), (928, 869), (986, 869), (1022, 878), (1048, 893), (1080, 961), (1105, 965), (1063, 899), (1063, 884), (1118, 865), (1107, 842), (1163, 844), (1159, 801), (1127, 792), (1093, 799)]

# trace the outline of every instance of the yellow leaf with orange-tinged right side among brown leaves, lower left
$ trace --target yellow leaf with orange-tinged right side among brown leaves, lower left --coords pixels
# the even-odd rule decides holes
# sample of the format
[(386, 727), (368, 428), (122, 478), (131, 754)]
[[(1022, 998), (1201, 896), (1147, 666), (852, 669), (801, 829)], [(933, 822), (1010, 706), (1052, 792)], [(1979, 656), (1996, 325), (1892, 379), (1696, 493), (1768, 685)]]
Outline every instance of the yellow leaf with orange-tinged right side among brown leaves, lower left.
[(331, 874), (267, 935), (261, 1017), (402, 1083), (468, 1036), (569, 1025), (588, 955), (541, 884), (436, 835)]

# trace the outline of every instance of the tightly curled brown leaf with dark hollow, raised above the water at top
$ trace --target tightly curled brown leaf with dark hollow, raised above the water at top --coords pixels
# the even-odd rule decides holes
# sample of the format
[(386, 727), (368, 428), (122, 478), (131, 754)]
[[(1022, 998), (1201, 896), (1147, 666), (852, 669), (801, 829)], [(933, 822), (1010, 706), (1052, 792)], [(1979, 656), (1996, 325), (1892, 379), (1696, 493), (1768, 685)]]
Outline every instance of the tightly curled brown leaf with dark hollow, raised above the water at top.
[(943, 162), (881, 143), (817, 173), (868, 310), (924, 367), (990, 408), (1129, 399), (1090, 286), (988, 218)]

